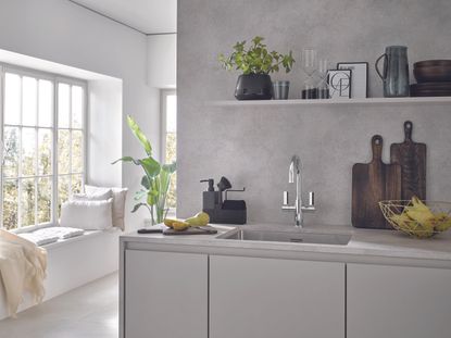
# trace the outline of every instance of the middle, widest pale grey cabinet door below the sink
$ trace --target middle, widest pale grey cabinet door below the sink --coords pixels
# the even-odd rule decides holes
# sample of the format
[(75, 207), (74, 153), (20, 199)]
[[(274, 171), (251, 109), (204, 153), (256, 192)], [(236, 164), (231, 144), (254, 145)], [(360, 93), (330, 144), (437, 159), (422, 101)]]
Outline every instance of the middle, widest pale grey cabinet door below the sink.
[(344, 264), (210, 256), (210, 338), (344, 337)]

